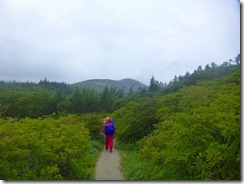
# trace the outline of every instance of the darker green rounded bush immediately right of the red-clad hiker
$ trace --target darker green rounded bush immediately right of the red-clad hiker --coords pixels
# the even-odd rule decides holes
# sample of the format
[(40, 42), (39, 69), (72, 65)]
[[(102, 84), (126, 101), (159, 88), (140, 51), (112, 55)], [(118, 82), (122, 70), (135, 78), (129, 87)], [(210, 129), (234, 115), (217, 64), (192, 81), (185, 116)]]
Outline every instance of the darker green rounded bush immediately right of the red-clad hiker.
[(159, 122), (154, 116), (157, 106), (156, 99), (145, 97), (114, 111), (112, 116), (116, 119), (118, 139), (136, 142), (149, 134), (154, 129), (154, 124)]

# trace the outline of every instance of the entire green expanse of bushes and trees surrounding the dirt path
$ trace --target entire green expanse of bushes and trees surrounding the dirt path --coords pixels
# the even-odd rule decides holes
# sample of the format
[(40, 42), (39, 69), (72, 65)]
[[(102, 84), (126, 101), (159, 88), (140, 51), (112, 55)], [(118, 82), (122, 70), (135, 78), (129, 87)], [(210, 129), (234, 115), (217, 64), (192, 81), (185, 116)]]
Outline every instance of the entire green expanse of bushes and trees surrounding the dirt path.
[(93, 179), (112, 116), (128, 180), (240, 180), (240, 83), (240, 55), (128, 94), (2, 81), (0, 178)]

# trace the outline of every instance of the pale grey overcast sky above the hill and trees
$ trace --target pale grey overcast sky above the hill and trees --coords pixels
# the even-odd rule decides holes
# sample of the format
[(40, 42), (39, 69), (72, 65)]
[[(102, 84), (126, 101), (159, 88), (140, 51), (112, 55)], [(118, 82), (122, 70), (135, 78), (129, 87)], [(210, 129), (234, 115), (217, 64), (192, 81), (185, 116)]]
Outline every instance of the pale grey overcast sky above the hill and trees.
[(238, 53), (238, 0), (0, 0), (4, 81), (168, 83)]

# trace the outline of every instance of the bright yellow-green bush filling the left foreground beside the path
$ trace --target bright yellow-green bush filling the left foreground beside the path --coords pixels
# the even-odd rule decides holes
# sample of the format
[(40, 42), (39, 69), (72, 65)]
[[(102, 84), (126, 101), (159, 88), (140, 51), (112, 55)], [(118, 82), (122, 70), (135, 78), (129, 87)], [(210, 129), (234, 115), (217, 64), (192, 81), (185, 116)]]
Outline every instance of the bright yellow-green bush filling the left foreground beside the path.
[(98, 149), (85, 123), (59, 119), (0, 120), (0, 178), (88, 180)]

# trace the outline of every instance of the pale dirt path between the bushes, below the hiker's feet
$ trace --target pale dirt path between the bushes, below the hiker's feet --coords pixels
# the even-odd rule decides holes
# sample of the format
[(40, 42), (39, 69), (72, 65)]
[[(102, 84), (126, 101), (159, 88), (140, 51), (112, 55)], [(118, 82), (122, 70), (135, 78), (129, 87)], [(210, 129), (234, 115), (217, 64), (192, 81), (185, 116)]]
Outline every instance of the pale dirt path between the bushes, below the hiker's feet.
[(116, 149), (113, 152), (101, 151), (96, 165), (95, 180), (124, 180), (120, 171), (120, 156)]

